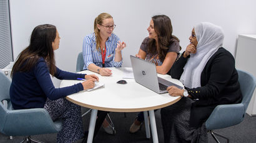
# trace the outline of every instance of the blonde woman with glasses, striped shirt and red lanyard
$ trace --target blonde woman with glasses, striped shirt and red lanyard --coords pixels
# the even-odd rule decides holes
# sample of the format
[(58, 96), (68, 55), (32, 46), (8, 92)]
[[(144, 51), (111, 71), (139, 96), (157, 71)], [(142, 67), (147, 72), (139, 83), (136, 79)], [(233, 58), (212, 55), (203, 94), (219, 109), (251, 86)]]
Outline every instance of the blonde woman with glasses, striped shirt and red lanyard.
[(82, 52), (84, 55), (84, 70), (91, 70), (103, 76), (112, 75), (106, 67), (121, 67), (121, 50), (126, 43), (120, 42), (119, 37), (113, 34), (116, 27), (113, 17), (101, 13), (94, 21), (94, 33), (84, 38)]

